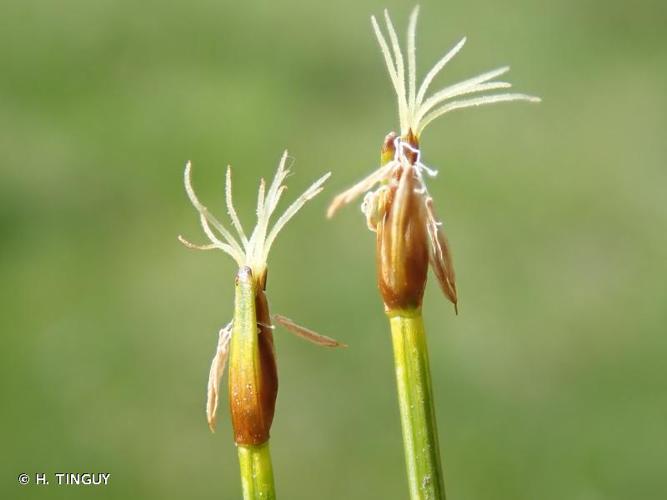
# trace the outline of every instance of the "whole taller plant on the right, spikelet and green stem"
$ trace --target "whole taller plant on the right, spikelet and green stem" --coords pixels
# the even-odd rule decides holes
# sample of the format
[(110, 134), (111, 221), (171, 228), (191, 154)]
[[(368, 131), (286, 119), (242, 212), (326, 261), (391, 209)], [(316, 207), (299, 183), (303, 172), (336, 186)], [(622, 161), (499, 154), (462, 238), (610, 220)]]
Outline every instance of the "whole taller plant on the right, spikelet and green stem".
[(429, 123), (456, 109), (539, 99), (516, 93), (456, 99), (510, 87), (507, 82), (494, 80), (506, 73), (508, 67), (450, 85), (427, 98), (433, 79), (463, 47), (465, 38), (433, 66), (417, 88), (418, 12), (418, 8), (412, 11), (408, 24), (407, 68), (387, 11), (384, 17), (390, 43), (375, 17), (371, 18), (398, 98), (400, 134), (387, 135), (381, 149), (380, 168), (338, 195), (329, 207), (328, 216), (366, 193), (362, 210), (368, 228), (377, 235), (377, 280), (391, 327), (410, 497), (442, 499), (445, 489), (421, 309), (429, 263), (455, 310), (458, 297), (449, 244), (425, 183), (425, 177), (434, 177), (437, 172), (422, 162), (420, 137)]

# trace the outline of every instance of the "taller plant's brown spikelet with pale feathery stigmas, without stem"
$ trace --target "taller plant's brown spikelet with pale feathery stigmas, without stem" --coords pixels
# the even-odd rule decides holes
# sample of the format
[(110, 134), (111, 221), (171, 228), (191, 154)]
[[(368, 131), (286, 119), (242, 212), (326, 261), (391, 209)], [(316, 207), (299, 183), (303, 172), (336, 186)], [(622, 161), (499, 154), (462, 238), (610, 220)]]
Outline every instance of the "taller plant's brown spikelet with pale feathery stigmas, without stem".
[[(507, 66), (450, 85), (427, 98), (431, 82), (461, 50), (466, 39), (447, 52), (417, 88), (415, 32), (418, 14), (419, 7), (416, 7), (408, 23), (407, 69), (388, 12), (384, 11), (384, 19), (390, 43), (375, 17), (371, 17), (398, 100), (400, 135), (393, 132), (387, 135), (382, 146), (380, 168), (334, 198), (327, 212), (327, 216), (332, 217), (341, 206), (366, 193), (362, 211), (369, 229), (377, 233), (378, 285), (388, 311), (421, 306), (429, 262), (444, 294), (457, 308), (449, 244), (424, 181), (425, 177), (437, 175), (437, 171), (421, 160), (419, 141), (424, 129), (436, 118), (456, 109), (506, 101), (540, 101), (537, 97), (518, 93), (454, 100), (511, 87), (507, 82), (494, 81), (509, 71)], [(379, 188), (371, 191), (378, 184)]]

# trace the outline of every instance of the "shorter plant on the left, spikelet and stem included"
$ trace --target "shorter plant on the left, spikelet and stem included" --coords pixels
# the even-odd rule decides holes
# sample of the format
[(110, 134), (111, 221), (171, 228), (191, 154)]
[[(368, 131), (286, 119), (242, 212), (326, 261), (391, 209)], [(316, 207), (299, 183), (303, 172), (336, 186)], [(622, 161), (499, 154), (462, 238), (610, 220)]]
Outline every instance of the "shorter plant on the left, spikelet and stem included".
[(330, 176), (328, 173), (315, 181), (269, 229), (271, 216), (286, 189), (283, 181), (289, 174), (286, 168), (287, 159), (285, 151), (268, 191), (264, 179), (260, 181), (257, 225), (250, 237), (246, 236), (232, 202), (231, 169), (227, 168), (225, 199), (236, 236), (199, 201), (190, 179), (190, 163), (185, 167), (185, 190), (199, 213), (199, 220), (209, 243), (196, 245), (181, 236), (179, 240), (187, 247), (197, 250), (222, 250), (239, 266), (235, 282), (234, 316), (232, 321), (220, 330), (218, 346), (211, 363), (206, 418), (209, 427), (214, 430), (220, 379), (229, 356), (229, 405), (241, 468), (243, 498), (246, 500), (270, 500), (276, 497), (269, 451), (269, 432), (278, 394), (272, 319), (288, 331), (318, 345), (342, 346), (284, 316), (269, 314), (265, 293), (269, 250), (285, 224), (308, 200), (322, 191), (324, 182)]

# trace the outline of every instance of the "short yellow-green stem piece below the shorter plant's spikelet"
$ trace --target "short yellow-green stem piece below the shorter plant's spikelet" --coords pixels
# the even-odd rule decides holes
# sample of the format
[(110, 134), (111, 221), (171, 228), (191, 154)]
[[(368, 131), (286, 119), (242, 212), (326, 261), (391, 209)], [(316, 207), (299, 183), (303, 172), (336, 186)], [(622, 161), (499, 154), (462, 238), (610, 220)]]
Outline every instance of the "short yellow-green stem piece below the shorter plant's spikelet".
[(244, 500), (275, 500), (273, 466), (269, 442), (259, 445), (237, 445), (241, 465)]

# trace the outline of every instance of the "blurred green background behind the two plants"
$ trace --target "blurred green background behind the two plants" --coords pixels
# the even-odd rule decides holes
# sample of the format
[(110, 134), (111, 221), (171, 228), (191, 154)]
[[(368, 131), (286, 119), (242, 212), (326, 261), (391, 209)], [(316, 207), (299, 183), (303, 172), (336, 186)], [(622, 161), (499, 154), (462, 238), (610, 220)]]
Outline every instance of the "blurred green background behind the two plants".
[[(403, 2), (7, 0), (0, 24), (0, 497), (239, 498), (226, 407), (205, 384), (235, 266), (182, 185), (251, 226), (285, 147), (274, 312), (349, 344), (276, 333), (272, 432), (285, 499), (406, 498), (392, 354), (357, 206), (396, 105), (369, 16)], [(423, 137), (460, 315), (424, 305), (448, 498), (667, 494), (667, 8), (661, 1), (422, 3), (422, 74), (503, 64), (540, 105), (447, 115)], [(110, 472), (106, 488), (20, 472)]]

